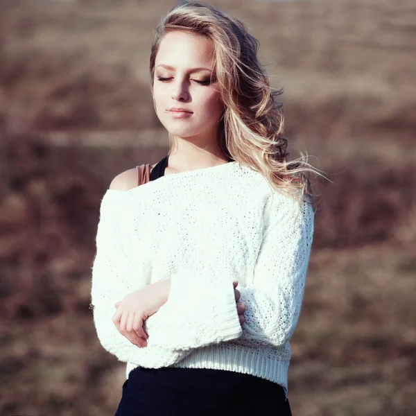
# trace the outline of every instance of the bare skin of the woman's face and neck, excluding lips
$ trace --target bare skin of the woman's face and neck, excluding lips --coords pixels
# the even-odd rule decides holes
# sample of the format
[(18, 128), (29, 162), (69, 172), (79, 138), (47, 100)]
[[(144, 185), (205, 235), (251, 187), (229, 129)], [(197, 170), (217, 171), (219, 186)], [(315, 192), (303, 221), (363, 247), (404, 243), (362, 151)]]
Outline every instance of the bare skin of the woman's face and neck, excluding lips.
[[(168, 33), (159, 45), (153, 100), (157, 117), (175, 137), (165, 175), (228, 162), (218, 148), (217, 123), (223, 103), (213, 58), (211, 41), (182, 31)], [(196, 68), (199, 70), (193, 71)], [(166, 111), (171, 107), (184, 107), (193, 114), (175, 119)]]

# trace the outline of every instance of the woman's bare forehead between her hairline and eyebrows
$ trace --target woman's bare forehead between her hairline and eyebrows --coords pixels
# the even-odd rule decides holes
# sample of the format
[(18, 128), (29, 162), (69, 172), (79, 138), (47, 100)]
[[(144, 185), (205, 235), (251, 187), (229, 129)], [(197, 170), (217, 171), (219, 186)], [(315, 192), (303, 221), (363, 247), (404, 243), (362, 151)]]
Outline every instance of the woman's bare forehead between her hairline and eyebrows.
[(206, 37), (175, 31), (167, 33), (159, 45), (156, 62), (178, 69), (214, 66), (214, 48)]

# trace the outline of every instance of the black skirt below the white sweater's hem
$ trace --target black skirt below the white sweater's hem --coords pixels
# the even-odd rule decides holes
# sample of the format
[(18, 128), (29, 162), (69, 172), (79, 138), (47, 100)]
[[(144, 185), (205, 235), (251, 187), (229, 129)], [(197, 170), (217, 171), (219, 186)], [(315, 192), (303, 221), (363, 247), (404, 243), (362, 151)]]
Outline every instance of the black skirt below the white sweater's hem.
[(284, 388), (250, 374), (205, 368), (137, 367), (115, 416), (291, 416)]

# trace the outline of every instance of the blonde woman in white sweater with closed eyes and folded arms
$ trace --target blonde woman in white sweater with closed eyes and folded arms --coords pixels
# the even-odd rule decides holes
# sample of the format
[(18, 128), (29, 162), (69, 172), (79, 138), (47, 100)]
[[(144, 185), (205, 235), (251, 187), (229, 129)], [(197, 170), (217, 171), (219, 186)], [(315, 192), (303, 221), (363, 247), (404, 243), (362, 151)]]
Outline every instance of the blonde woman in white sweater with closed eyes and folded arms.
[(316, 171), (288, 161), (257, 48), (204, 3), (157, 27), (151, 87), (169, 153), (146, 184), (135, 168), (112, 180), (92, 268), (98, 339), (127, 363), (116, 416), (291, 415)]

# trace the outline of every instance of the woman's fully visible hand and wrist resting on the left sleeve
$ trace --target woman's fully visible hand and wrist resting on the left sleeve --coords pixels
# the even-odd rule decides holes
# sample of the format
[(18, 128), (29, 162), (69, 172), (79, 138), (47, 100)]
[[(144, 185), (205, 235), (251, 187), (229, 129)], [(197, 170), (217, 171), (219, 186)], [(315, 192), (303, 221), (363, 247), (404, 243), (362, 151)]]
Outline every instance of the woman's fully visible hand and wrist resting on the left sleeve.
[(148, 334), (143, 323), (167, 302), (170, 291), (171, 280), (166, 279), (129, 293), (117, 302), (112, 321), (121, 335), (137, 347), (146, 347)]

